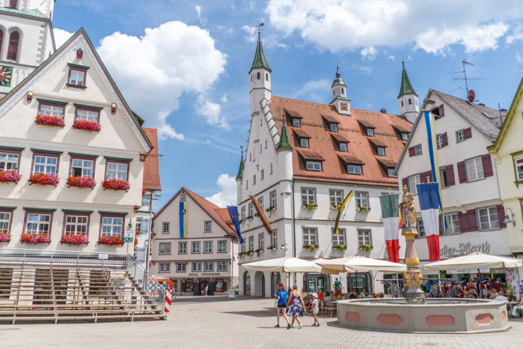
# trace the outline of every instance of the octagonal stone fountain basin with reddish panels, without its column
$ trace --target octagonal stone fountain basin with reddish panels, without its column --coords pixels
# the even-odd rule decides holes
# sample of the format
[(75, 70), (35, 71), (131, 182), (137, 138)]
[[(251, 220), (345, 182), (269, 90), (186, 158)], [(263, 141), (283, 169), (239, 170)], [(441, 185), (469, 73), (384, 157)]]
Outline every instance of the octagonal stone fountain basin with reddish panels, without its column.
[(489, 299), (426, 298), (407, 305), (405, 298), (336, 301), (338, 324), (360, 330), (406, 333), (481, 333), (506, 331), (507, 302)]

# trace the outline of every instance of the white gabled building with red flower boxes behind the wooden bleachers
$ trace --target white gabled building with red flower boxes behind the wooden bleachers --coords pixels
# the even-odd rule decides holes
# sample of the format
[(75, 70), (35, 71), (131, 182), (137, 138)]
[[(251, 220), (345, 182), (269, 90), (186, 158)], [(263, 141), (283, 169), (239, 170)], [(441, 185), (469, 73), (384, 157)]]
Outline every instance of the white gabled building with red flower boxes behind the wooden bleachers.
[(126, 252), (99, 242), (131, 223), (152, 145), (83, 29), (0, 100), (0, 123), (0, 247)]

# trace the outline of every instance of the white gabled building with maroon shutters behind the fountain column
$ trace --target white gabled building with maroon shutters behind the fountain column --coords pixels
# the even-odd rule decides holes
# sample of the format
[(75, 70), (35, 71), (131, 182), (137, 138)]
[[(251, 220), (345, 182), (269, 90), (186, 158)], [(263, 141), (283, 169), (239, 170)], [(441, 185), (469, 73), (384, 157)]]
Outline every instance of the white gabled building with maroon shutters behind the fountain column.
[[(429, 89), (422, 108), (436, 115), (435, 151), (447, 219), (447, 229), (440, 227), (441, 258), (475, 251), (509, 256), (496, 166), (486, 150), (501, 127), (500, 111), (434, 89)], [(408, 185), (413, 194), (416, 183), (432, 181), (427, 147), (427, 131), (420, 112), (396, 168), (401, 183)], [(424, 264), (428, 261), (428, 247), (418, 201), (415, 207), (419, 232), (415, 245), (420, 263)]]

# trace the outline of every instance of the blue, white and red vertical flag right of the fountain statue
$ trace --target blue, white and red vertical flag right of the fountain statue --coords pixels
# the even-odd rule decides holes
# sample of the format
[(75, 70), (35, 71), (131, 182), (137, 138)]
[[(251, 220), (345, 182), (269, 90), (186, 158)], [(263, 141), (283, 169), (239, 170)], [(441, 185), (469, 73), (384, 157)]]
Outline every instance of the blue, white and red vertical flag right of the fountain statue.
[(422, 210), (423, 226), (427, 236), (428, 260), (439, 261), (439, 183), (417, 184), (419, 207)]

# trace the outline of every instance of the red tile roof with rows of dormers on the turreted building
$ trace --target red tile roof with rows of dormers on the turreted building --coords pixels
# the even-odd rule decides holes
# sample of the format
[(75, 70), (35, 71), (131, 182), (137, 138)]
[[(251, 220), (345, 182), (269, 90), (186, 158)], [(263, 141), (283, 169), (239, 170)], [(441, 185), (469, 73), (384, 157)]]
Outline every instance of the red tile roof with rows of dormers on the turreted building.
[[(276, 96), (271, 97), (269, 108), (279, 130), (283, 117), (286, 116), (285, 111), (289, 114), (289, 110), (292, 110), (292, 114), (303, 119), (301, 128), (288, 126), (289, 130), (300, 129), (311, 137), (310, 149), (301, 148), (297, 138), (289, 137), (293, 148), (294, 178), (383, 187), (398, 186), (397, 178), (389, 177), (386, 172), (387, 165), (384, 167), (377, 158), (387, 160), (388, 164), (398, 161), (405, 143), (401, 140), (401, 133), (395, 131), (393, 126), (398, 130), (410, 132), (412, 124), (404, 117), (360, 109), (351, 109), (351, 116), (346, 117), (339, 115), (334, 106)], [(338, 132), (329, 131), (329, 120), (339, 121)], [(287, 122), (287, 125), (292, 123)], [(372, 125), (376, 137), (367, 137), (360, 125)], [(379, 142), (380, 147), (386, 147), (386, 156), (378, 156), (369, 139)], [(348, 152), (338, 151), (337, 142), (344, 140), (348, 141)], [(323, 171), (305, 170), (303, 158), (311, 156), (323, 159)], [(362, 164), (363, 175), (347, 174), (346, 163)]]

